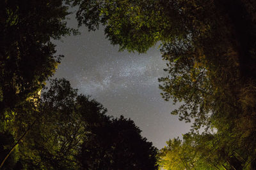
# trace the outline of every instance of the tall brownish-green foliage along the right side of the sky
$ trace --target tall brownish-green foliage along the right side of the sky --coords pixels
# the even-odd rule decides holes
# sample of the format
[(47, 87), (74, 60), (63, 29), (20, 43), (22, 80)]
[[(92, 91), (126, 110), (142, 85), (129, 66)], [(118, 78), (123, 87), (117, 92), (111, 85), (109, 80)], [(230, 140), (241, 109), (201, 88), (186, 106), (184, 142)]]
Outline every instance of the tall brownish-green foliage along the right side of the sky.
[[(204, 15), (212, 21), (208, 35), (195, 36), (192, 32), (189, 41), (165, 43), (162, 53), (163, 59), (168, 60), (165, 71), (170, 75), (159, 79), (164, 99), (184, 102), (173, 114), (186, 122), (192, 120), (193, 131), (206, 126), (205, 133), (209, 134), (209, 130), (215, 129), (208, 141), (216, 144), (214, 148), (209, 150), (207, 145), (202, 145), (204, 150), (198, 152), (201, 155), (212, 152), (207, 154), (216, 157), (213, 162), (222, 160), (224, 163), (220, 165), (237, 166), (237, 169), (246, 166), (237, 163), (234, 152), (244, 160), (255, 155), (256, 72), (253, 67), (256, 60), (252, 53), (255, 46), (244, 41), (255, 42), (251, 39), (255, 36), (252, 29), (255, 22), (244, 9), (246, 4), (247, 1), (232, 4), (214, 1), (211, 8), (205, 8), (212, 13)], [(236, 15), (237, 11), (243, 13), (244, 19)], [(207, 25), (200, 16), (194, 15)], [(239, 23), (246, 27), (241, 28)]]

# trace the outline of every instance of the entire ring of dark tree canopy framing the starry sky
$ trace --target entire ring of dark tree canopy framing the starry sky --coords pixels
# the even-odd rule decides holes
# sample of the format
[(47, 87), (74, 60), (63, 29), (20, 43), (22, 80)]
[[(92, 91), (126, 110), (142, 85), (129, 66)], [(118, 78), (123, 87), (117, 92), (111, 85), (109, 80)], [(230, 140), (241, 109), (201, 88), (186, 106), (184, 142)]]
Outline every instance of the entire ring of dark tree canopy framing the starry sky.
[(51, 39), (77, 34), (65, 22), (70, 4), (78, 6), (80, 26), (104, 25), (120, 50), (143, 53), (161, 41), (168, 73), (159, 78), (161, 95), (181, 103), (172, 114), (193, 126), (161, 150), (160, 166), (256, 167), (255, 1), (10, 0), (0, 2), (0, 158), (10, 153), (4, 168), (157, 168), (156, 148), (132, 120), (106, 116), (65, 80), (38, 94), (60, 63)]

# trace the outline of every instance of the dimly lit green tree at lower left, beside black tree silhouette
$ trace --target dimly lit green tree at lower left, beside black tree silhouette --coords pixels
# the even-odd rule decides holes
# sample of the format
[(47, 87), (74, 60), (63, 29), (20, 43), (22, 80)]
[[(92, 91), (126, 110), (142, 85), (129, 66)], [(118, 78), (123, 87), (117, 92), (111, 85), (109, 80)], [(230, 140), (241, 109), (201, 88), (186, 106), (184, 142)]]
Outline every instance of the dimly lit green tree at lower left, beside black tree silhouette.
[[(67, 80), (52, 80), (30, 114), (36, 124), (19, 145), (19, 161), (28, 169), (80, 169), (77, 155), (90, 132), (86, 127), (105, 113), (101, 104), (78, 95)], [(15, 122), (18, 126), (22, 118)]]

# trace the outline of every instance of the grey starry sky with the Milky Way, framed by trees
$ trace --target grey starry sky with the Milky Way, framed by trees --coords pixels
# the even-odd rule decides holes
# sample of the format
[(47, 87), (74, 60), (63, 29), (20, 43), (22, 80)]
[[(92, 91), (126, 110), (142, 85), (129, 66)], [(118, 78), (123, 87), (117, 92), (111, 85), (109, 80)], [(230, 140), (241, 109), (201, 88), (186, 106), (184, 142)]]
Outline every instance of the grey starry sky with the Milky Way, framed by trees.
[[(67, 23), (77, 27), (74, 16)], [(118, 52), (118, 46), (105, 38), (102, 27), (95, 32), (88, 32), (86, 27), (79, 31), (78, 36), (54, 41), (57, 53), (65, 55), (54, 78), (66, 78), (80, 93), (107, 108), (108, 115), (134, 120), (142, 136), (157, 148), (189, 131), (189, 124), (170, 115), (175, 108), (172, 102), (160, 95), (157, 78), (166, 75), (166, 65), (157, 45), (143, 54)]]

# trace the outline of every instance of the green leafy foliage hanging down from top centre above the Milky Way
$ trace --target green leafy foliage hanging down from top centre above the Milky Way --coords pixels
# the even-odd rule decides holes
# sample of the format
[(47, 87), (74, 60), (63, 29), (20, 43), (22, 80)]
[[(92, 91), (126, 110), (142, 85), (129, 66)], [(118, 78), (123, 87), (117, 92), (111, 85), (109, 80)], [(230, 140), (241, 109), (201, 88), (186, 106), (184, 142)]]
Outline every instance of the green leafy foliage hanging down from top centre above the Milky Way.
[[(159, 39), (167, 38), (163, 36), (167, 35), (167, 30), (164, 30), (166, 23), (163, 22), (166, 18), (158, 1), (76, 0), (73, 5), (79, 6), (79, 25), (86, 25), (90, 31), (104, 25), (107, 38), (113, 45), (119, 45), (120, 50), (146, 52)], [(172, 8), (169, 10), (173, 11)]]

